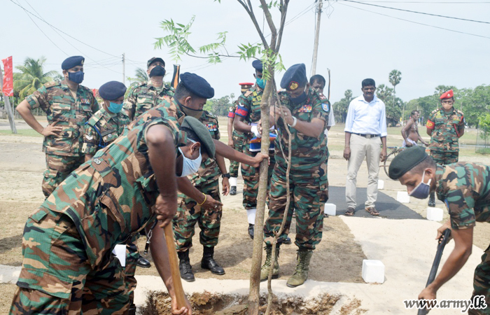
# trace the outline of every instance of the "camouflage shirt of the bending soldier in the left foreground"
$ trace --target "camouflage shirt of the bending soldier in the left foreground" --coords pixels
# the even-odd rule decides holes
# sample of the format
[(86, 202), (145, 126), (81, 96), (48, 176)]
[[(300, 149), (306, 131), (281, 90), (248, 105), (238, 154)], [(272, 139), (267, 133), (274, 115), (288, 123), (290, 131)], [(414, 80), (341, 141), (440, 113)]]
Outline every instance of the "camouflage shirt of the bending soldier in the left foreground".
[(148, 120), (99, 150), (41, 206), (71, 218), (92, 267), (102, 265), (116, 244), (132, 238), (155, 216), (152, 207), (159, 192), (145, 137), (156, 124), (169, 128), (176, 149), (186, 144), (174, 120)]

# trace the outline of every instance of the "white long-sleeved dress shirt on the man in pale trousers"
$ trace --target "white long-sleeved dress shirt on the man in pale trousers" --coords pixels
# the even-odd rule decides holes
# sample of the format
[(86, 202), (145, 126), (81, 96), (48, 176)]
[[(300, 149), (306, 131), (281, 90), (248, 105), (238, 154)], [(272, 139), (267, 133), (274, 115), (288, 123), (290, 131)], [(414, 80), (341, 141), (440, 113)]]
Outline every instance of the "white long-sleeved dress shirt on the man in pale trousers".
[(349, 104), (345, 120), (345, 132), (352, 134), (380, 134), (386, 137), (386, 109), (383, 101), (374, 95), (371, 102), (366, 102), (364, 95), (356, 97)]

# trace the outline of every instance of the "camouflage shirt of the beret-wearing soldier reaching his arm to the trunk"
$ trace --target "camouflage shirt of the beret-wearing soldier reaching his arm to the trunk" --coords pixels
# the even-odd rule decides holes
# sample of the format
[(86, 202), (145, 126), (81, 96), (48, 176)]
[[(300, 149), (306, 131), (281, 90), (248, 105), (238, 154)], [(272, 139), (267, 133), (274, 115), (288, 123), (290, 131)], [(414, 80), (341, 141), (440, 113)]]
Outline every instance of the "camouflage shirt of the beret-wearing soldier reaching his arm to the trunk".
[[(204, 111), (199, 120), (204, 126), (207, 127), (209, 133), (211, 134), (211, 138), (216, 140), (220, 139), (218, 118), (216, 118), (216, 116), (208, 111)], [(202, 160), (201, 166), (199, 167), (197, 173), (189, 175), (189, 179), (193, 182), (194, 186), (199, 186), (210, 181), (217, 181), (220, 175), (221, 171), (218, 167), (218, 163), (216, 163), (216, 160), (207, 158), (206, 160)]]

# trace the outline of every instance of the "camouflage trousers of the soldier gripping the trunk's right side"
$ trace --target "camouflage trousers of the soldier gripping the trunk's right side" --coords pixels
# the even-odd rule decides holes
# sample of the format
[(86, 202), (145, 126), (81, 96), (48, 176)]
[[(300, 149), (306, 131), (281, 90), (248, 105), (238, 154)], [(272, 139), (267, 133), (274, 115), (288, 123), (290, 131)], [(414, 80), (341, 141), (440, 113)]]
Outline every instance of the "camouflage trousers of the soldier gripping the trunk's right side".
[[(321, 175), (318, 175), (321, 174)], [(293, 211), (296, 211), (295, 244), (300, 249), (315, 249), (321, 241), (323, 231), (323, 209), (328, 200), (328, 181), (326, 163), (319, 172), (309, 174), (290, 174), (290, 204), (286, 209), (286, 169), (276, 165), (270, 183), (269, 217), (265, 221), (264, 241), (272, 245), (274, 235), (279, 232), (286, 212), (286, 225), (278, 242), (288, 236)]]

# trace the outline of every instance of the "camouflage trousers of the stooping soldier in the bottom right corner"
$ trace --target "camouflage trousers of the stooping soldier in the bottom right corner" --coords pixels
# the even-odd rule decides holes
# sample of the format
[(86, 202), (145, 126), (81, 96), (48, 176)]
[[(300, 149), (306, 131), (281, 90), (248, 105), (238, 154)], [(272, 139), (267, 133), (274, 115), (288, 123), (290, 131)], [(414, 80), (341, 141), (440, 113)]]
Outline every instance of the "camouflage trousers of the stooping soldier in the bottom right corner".
[(486, 309), (470, 309), (468, 314), (490, 314), (490, 246), (482, 255), (482, 262), (475, 269), (472, 299), (477, 295), (485, 297)]

